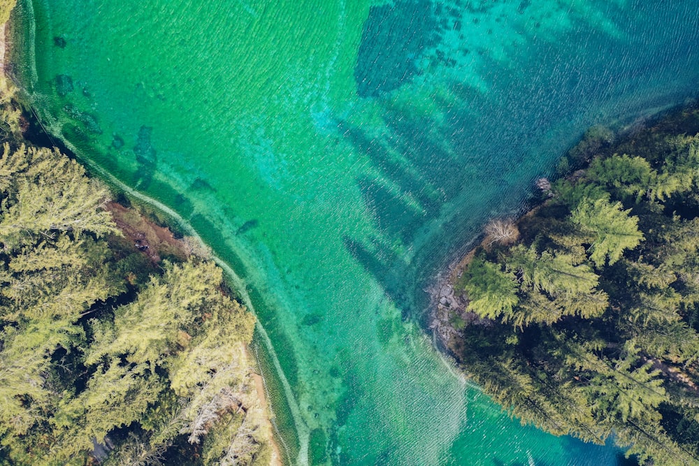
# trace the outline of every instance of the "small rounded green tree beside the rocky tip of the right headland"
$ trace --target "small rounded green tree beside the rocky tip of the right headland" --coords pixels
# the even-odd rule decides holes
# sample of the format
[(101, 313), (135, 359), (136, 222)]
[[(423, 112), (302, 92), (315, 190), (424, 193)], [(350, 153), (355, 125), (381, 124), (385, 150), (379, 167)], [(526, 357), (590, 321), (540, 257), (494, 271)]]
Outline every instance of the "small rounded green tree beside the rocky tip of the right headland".
[(517, 305), (514, 274), (501, 271), (499, 265), (475, 258), (463, 283), (469, 297), (468, 307), (482, 317), (510, 316)]

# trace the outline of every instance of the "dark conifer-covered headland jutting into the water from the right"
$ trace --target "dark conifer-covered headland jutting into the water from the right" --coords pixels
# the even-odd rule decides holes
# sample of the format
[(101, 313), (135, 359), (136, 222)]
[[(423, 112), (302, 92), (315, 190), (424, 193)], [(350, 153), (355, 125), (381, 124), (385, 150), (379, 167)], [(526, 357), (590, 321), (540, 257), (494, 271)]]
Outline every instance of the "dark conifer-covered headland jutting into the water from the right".
[(586, 169), (512, 228), (517, 244), (475, 251), (447, 344), (523, 423), (695, 465), (699, 110), (615, 145), (598, 133), (561, 163)]

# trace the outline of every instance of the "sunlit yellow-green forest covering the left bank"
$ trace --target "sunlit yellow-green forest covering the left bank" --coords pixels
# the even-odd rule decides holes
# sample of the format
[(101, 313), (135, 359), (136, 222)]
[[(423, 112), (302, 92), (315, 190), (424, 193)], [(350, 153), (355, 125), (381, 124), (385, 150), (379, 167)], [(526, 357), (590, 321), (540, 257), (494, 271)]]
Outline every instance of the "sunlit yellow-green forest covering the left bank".
[(227, 296), (222, 270), (135, 247), (103, 184), (22, 143), (8, 102), (0, 464), (269, 464), (245, 349), (254, 317)]

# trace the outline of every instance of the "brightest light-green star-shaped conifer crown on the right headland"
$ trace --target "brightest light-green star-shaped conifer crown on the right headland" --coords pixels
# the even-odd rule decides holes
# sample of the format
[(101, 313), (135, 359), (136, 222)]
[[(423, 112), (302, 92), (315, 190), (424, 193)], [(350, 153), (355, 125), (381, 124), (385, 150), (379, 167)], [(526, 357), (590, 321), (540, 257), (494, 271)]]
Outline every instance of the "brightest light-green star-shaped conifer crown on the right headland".
[(619, 261), (625, 249), (635, 248), (642, 240), (638, 230), (638, 217), (629, 216), (621, 202), (610, 203), (606, 199), (583, 199), (572, 212), (572, 222), (583, 231), (595, 235), (590, 246), (590, 259), (598, 268)]

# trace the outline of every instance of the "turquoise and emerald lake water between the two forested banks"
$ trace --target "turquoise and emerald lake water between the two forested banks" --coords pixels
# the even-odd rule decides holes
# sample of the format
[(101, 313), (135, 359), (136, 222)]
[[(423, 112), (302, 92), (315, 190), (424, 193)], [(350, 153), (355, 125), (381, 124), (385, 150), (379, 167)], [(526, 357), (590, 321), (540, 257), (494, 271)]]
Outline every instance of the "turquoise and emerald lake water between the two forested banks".
[(289, 463), (614, 465), (460, 377), (418, 324), (422, 289), (587, 127), (695, 96), (697, 13), (24, 0), (17, 75), (55, 137), (235, 270)]

